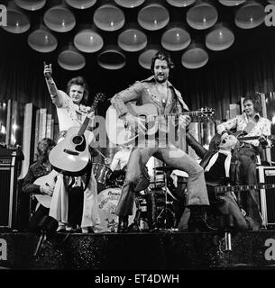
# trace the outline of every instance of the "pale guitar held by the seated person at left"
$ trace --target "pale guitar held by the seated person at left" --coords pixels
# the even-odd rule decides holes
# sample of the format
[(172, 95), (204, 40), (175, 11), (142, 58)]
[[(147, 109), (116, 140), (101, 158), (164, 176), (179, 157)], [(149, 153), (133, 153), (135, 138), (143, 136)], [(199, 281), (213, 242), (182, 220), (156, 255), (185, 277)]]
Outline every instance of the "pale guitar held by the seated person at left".
[[(37, 178), (33, 184), (37, 185), (42, 185), (46, 184), (50, 186), (50, 188), (53, 190), (56, 180), (57, 180), (57, 175), (59, 175), (59, 172), (52, 170), (50, 174), (41, 176), (40, 178)], [(41, 203), (46, 208), (50, 208), (50, 202), (51, 202), (51, 196), (48, 194), (34, 194), (36, 200)]]

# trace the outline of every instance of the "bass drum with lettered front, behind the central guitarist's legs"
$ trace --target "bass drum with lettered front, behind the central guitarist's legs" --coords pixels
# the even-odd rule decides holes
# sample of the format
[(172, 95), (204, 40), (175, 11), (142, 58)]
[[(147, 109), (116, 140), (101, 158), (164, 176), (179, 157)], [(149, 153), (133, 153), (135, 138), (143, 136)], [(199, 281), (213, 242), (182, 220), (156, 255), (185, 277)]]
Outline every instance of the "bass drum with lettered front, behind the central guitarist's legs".
[[(118, 216), (115, 215), (115, 207), (121, 195), (121, 188), (108, 188), (97, 195), (98, 213), (100, 218), (100, 228), (96, 233), (116, 232), (118, 226)], [(133, 203), (133, 215), (129, 216), (129, 225), (133, 223), (136, 212), (136, 205)]]

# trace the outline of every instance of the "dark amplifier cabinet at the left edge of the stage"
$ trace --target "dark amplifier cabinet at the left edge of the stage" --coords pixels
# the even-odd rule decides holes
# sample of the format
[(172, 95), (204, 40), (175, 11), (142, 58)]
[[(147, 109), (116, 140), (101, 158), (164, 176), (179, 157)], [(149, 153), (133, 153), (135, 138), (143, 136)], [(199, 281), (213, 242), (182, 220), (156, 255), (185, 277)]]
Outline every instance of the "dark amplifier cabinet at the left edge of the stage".
[(15, 228), (17, 218), (17, 177), (23, 153), (17, 148), (0, 148), (0, 227)]

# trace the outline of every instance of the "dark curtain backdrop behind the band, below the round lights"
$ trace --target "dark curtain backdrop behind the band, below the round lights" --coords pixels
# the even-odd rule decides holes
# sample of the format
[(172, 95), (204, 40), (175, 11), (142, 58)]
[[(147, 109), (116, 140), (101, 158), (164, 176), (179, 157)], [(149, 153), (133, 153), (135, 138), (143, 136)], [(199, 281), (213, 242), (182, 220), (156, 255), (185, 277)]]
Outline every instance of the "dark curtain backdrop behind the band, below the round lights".
[[(275, 43), (246, 53), (234, 61), (225, 60), (196, 70), (186, 70), (176, 63), (170, 81), (183, 95), (192, 110), (207, 106), (216, 110), (216, 119), (224, 120), (229, 103), (238, 103), (240, 97), (257, 92), (275, 91)], [(41, 55), (22, 55), (20, 49), (0, 49), (0, 101), (14, 99), (22, 103), (34, 103), (55, 113), (45, 84)], [(17, 51), (17, 53), (15, 53)], [(95, 61), (92, 59), (91, 61)], [(61, 90), (66, 90), (68, 80), (82, 75), (90, 88), (89, 103), (97, 92), (105, 92), (107, 98), (132, 85), (137, 80), (151, 76), (148, 70), (126, 67), (117, 71), (98, 69), (91, 71), (65, 71), (53, 66), (53, 77)], [(109, 102), (99, 104), (99, 113), (105, 115)]]

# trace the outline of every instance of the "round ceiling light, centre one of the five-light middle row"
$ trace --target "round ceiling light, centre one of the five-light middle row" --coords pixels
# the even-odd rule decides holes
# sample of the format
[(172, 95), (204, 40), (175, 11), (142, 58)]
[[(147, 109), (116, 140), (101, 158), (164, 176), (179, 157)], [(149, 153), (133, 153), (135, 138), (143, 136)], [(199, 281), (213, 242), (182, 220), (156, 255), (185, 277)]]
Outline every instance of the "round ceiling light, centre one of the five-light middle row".
[(125, 51), (136, 52), (146, 47), (147, 36), (138, 29), (129, 28), (119, 34), (117, 43)]

